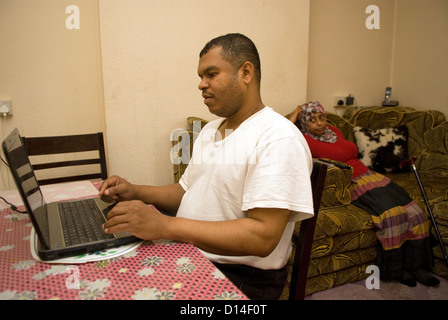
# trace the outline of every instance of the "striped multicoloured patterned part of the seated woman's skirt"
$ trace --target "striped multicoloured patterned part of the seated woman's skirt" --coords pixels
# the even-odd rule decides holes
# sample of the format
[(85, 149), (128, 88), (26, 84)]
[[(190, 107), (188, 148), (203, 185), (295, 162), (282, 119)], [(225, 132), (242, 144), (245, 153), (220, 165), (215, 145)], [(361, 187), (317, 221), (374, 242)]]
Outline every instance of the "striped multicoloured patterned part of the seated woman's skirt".
[(352, 180), (350, 191), (352, 204), (372, 216), (384, 250), (429, 236), (430, 222), (426, 213), (388, 177), (369, 170)]

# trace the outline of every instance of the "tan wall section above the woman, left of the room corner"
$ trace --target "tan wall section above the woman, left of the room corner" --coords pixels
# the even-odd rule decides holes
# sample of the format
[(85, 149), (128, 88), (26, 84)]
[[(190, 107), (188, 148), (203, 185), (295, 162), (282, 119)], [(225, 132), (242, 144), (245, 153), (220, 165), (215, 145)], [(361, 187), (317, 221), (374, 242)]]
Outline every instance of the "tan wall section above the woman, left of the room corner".
[[(380, 9), (380, 29), (369, 30), (366, 7)], [(333, 97), (353, 94), (378, 105), (390, 85), (394, 1), (313, 0), (310, 10), (308, 100), (333, 111)]]

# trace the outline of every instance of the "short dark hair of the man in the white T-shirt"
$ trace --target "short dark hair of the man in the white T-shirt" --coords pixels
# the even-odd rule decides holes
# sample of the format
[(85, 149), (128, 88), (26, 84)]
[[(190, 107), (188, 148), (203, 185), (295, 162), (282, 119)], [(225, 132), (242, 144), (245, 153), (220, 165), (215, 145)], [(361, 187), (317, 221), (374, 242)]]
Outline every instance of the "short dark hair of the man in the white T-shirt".
[(260, 84), (260, 56), (258, 55), (257, 47), (252, 40), (240, 33), (229, 33), (210, 40), (199, 53), (199, 57), (202, 57), (210, 49), (216, 47), (221, 47), (222, 57), (233, 65), (235, 71), (246, 61), (252, 63), (255, 69), (256, 80), (258, 84)]

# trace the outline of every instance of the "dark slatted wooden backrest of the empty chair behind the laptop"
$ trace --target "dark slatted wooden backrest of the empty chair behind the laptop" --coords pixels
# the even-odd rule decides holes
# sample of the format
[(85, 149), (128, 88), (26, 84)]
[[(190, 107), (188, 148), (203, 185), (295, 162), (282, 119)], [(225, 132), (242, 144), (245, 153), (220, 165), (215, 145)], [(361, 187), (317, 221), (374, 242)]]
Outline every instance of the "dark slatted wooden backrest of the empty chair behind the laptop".
[[(103, 133), (92, 134), (79, 134), (70, 136), (52, 136), (52, 137), (23, 137), (25, 147), (30, 157), (30, 161), (34, 171), (39, 170), (52, 170), (52, 176), (56, 177), (39, 179), (40, 185), (50, 183), (60, 183), (68, 181), (79, 181), (88, 179), (106, 179), (107, 178), (107, 165), (106, 165), (106, 153), (104, 149)], [(92, 155), (86, 151), (98, 151)], [(73, 160), (52, 161), (43, 160), (39, 163), (33, 163), (33, 156), (49, 156), (56, 154), (68, 154), (73, 153)], [(97, 154), (97, 155), (96, 155)], [(47, 157), (48, 158), (48, 157)], [(86, 166), (92, 164), (99, 164), (98, 166), (92, 166), (89, 168), (89, 173), (79, 172), (76, 169), (77, 174), (67, 176), (66, 173), (61, 173), (56, 168), (61, 167), (76, 167)], [(59, 172), (57, 172), (59, 171)], [(82, 170), (81, 170), (82, 171)], [(90, 173), (94, 171), (93, 173)]]

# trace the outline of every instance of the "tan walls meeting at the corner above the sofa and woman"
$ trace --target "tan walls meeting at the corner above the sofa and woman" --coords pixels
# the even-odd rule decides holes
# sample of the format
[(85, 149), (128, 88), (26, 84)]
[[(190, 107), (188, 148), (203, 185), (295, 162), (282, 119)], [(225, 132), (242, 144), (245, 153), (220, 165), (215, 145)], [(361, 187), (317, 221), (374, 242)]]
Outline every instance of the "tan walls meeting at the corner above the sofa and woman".
[[(370, 4), (379, 30), (365, 27)], [(447, 34), (446, 0), (313, 0), (307, 100), (333, 112), (333, 97), (350, 93), (358, 106), (381, 105), (392, 86), (401, 106), (448, 116)]]

